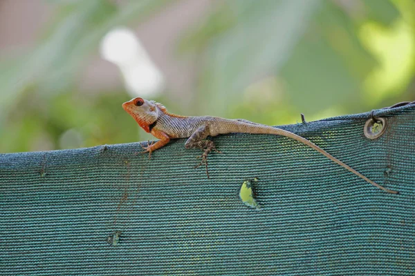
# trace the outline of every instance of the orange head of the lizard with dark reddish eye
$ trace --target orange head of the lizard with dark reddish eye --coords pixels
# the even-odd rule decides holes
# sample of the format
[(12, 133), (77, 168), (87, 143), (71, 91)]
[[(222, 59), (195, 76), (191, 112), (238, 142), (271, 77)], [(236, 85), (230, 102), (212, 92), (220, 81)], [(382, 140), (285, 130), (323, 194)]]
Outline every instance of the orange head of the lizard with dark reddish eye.
[(122, 103), (122, 108), (147, 132), (150, 132), (149, 126), (158, 119), (158, 108), (154, 101), (138, 97)]

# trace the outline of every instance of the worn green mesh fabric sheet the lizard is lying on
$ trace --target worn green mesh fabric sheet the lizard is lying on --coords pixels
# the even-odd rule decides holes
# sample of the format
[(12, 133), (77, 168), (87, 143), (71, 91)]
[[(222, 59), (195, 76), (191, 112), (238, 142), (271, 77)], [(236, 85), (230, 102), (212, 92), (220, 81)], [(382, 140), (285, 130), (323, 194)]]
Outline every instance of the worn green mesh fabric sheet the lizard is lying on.
[[(210, 179), (184, 139), (0, 155), (0, 275), (412, 275), (415, 106), (214, 137)], [(239, 188), (257, 177), (261, 210)]]

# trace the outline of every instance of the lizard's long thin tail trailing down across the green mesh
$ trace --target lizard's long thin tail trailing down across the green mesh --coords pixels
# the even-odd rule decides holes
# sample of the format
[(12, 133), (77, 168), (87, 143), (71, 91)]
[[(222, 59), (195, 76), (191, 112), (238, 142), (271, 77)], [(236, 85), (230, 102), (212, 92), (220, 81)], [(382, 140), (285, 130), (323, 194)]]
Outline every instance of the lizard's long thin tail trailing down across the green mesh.
[(270, 127), (270, 126), (250, 124), (248, 121), (239, 121), (237, 125), (239, 125), (239, 126), (237, 126), (238, 129), (235, 132), (252, 133), (252, 134), (273, 134), (273, 135), (281, 135), (281, 136), (285, 136), (285, 137), (288, 137), (288, 138), (291, 138), (291, 139), (295, 139), (295, 140), (301, 142), (302, 144), (305, 144), (305, 145), (309, 146), (310, 148), (313, 148), (313, 149), (317, 150), (317, 152), (320, 152), (322, 155), (329, 158), (331, 161), (339, 164), (343, 168), (346, 168), (350, 172), (353, 172), (358, 177), (360, 177), (362, 179), (365, 179), (367, 182), (369, 182), (370, 184), (380, 188), (381, 190), (384, 190), (385, 192), (391, 193), (391, 194), (398, 194), (398, 192), (396, 190), (389, 190), (389, 189), (387, 189), (383, 186), (380, 186), (379, 184), (375, 183), (374, 181), (371, 181), (369, 178), (365, 177), (365, 175), (362, 175), (360, 172), (358, 172), (357, 170), (351, 168), (349, 165), (344, 164), (339, 159), (333, 157), (333, 155), (331, 155), (329, 152), (326, 152), (326, 150), (323, 150), (322, 148), (320, 148), (316, 144), (312, 143), (311, 141), (308, 141), (307, 139), (305, 139), (301, 136), (298, 136), (298, 135), (294, 134), (293, 132), (289, 132), (287, 130), (282, 130), (281, 128), (273, 128), (273, 127)]

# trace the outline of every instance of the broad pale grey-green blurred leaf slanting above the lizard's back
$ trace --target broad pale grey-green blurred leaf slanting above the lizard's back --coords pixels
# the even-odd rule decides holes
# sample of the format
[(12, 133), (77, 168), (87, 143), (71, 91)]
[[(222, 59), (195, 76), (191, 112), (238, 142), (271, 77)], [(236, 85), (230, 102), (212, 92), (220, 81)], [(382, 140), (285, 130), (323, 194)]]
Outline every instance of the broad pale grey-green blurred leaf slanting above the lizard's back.
[[(232, 3), (237, 25), (215, 39), (208, 50), (202, 83), (223, 112), (248, 84), (281, 68), (302, 37), (320, 1), (237, 1)], [(203, 80), (202, 80), (203, 81)]]

